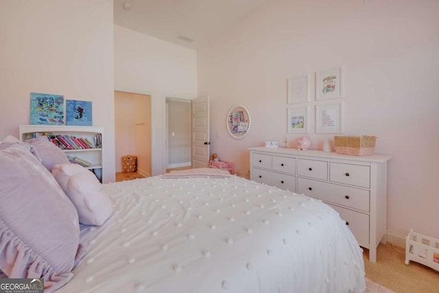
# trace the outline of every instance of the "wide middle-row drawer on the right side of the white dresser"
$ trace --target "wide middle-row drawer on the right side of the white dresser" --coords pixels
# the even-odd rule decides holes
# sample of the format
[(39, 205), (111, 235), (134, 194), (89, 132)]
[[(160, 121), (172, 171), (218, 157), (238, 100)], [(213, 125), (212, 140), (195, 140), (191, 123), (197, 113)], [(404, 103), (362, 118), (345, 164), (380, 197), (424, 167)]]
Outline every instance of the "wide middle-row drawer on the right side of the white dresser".
[(318, 198), (324, 202), (340, 204), (344, 207), (359, 209), (365, 212), (370, 211), (370, 191), (368, 190), (335, 185), (307, 178), (298, 178), (297, 192), (298, 194)]

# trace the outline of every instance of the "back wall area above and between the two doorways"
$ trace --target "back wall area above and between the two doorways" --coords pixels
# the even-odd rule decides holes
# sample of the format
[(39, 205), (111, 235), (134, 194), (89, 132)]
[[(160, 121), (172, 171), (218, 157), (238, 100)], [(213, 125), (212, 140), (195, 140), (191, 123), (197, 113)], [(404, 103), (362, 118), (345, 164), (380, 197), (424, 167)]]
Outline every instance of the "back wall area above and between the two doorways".
[(115, 89), (151, 95), (152, 174), (165, 172), (165, 98), (197, 97), (196, 52), (115, 25)]

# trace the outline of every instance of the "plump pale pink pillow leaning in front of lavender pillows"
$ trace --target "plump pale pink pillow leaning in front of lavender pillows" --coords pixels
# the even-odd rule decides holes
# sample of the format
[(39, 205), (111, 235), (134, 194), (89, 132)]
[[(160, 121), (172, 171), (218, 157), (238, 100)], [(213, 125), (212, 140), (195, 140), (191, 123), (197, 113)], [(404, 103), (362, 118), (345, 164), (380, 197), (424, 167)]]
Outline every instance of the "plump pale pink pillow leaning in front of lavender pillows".
[(110, 198), (95, 174), (78, 164), (55, 165), (52, 174), (75, 204), (82, 224), (101, 226), (112, 213)]

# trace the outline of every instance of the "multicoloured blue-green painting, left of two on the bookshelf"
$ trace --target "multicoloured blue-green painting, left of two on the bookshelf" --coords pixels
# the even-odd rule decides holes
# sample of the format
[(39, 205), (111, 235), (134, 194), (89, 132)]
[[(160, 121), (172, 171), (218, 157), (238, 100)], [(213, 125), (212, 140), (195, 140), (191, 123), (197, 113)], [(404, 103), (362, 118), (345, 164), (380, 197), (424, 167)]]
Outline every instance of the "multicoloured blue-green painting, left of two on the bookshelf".
[(30, 124), (64, 125), (64, 96), (30, 93)]

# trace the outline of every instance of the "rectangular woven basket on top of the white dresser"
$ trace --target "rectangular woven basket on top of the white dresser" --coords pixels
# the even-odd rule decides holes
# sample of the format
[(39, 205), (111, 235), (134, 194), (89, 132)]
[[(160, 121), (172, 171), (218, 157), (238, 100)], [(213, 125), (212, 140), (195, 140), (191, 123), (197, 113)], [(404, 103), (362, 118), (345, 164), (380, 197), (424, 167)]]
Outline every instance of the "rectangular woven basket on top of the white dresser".
[(377, 137), (334, 137), (335, 152), (351, 156), (369, 156), (375, 149)]

